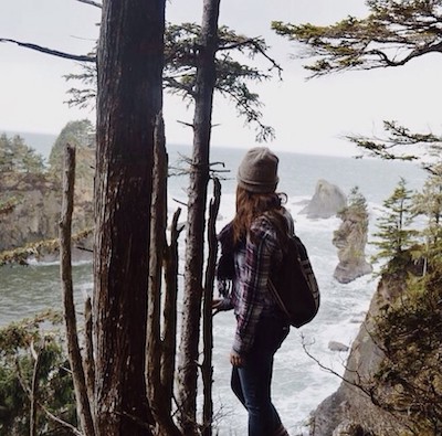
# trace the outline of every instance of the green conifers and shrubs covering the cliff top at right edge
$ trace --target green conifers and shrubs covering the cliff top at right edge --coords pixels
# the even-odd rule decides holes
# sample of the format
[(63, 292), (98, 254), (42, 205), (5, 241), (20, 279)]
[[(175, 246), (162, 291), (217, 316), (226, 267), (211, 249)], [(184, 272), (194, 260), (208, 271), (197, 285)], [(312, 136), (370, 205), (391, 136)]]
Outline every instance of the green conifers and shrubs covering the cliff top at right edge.
[[(403, 418), (407, 434), (420, 436), (442, 434), (441, 204), (441, 172), (414, 196), (402, 179), (385, 203), (390, 213), (381, 217), (378, 233), (383, 237), (378, 257), (389, 259), (382, 280), (403, 290), (376, 319), (372, 338), (383, 360), (366, 392), (382, 410)], [(415, 215), (428, 220), (420, 232), (406, 228)], [(423, 244), (413, 242), (417, 234)]]

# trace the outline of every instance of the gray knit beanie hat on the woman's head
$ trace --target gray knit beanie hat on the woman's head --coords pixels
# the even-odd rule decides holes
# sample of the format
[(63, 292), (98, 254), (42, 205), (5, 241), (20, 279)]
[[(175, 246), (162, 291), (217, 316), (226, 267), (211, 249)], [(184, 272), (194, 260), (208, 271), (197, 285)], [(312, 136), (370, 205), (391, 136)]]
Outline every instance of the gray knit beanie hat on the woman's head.
[(274, 192), (280, 181), (277, 157), (267, 147), (251, 148), (238, 168), (238, 184), (250, 192)]

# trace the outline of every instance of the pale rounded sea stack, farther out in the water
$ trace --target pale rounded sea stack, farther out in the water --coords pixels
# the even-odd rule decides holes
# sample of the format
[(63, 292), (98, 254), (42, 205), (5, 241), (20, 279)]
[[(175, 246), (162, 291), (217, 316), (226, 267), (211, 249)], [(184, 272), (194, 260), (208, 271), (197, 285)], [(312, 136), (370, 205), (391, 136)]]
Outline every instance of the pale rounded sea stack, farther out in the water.
[(301, 213), (306, 214), (309, 219), (328, 219), (336, 215), (346, 205), (347, 199), (344, 192), (335, 184), (320, 179), (316, 183), (312, 200)]

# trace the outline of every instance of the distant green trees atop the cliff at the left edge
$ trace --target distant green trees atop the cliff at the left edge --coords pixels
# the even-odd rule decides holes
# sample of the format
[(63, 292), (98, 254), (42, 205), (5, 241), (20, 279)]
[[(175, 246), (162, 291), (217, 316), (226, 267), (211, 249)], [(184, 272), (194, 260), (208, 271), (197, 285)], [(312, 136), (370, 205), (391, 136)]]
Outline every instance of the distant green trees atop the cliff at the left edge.
[(19, 135), (9, 138), (0, 136), (0, 174), (6, 172), (42, 173), (43, 157), (33, 148), (27, 146)]

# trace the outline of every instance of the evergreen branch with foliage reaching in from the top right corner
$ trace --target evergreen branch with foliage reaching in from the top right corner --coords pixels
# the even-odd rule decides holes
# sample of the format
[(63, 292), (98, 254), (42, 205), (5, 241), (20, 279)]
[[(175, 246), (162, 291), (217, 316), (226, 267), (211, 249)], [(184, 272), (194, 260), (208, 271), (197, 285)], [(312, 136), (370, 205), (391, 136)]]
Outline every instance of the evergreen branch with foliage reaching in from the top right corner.
[(365, 19), (347, 17), (327, 26), (272, 23), (291, 41), (303, 43), (313, 59), (312, 76), (347, 70), (403, 65), (414, 57), (442, 51), (442, 4), (434, 0), (368, 0)]

